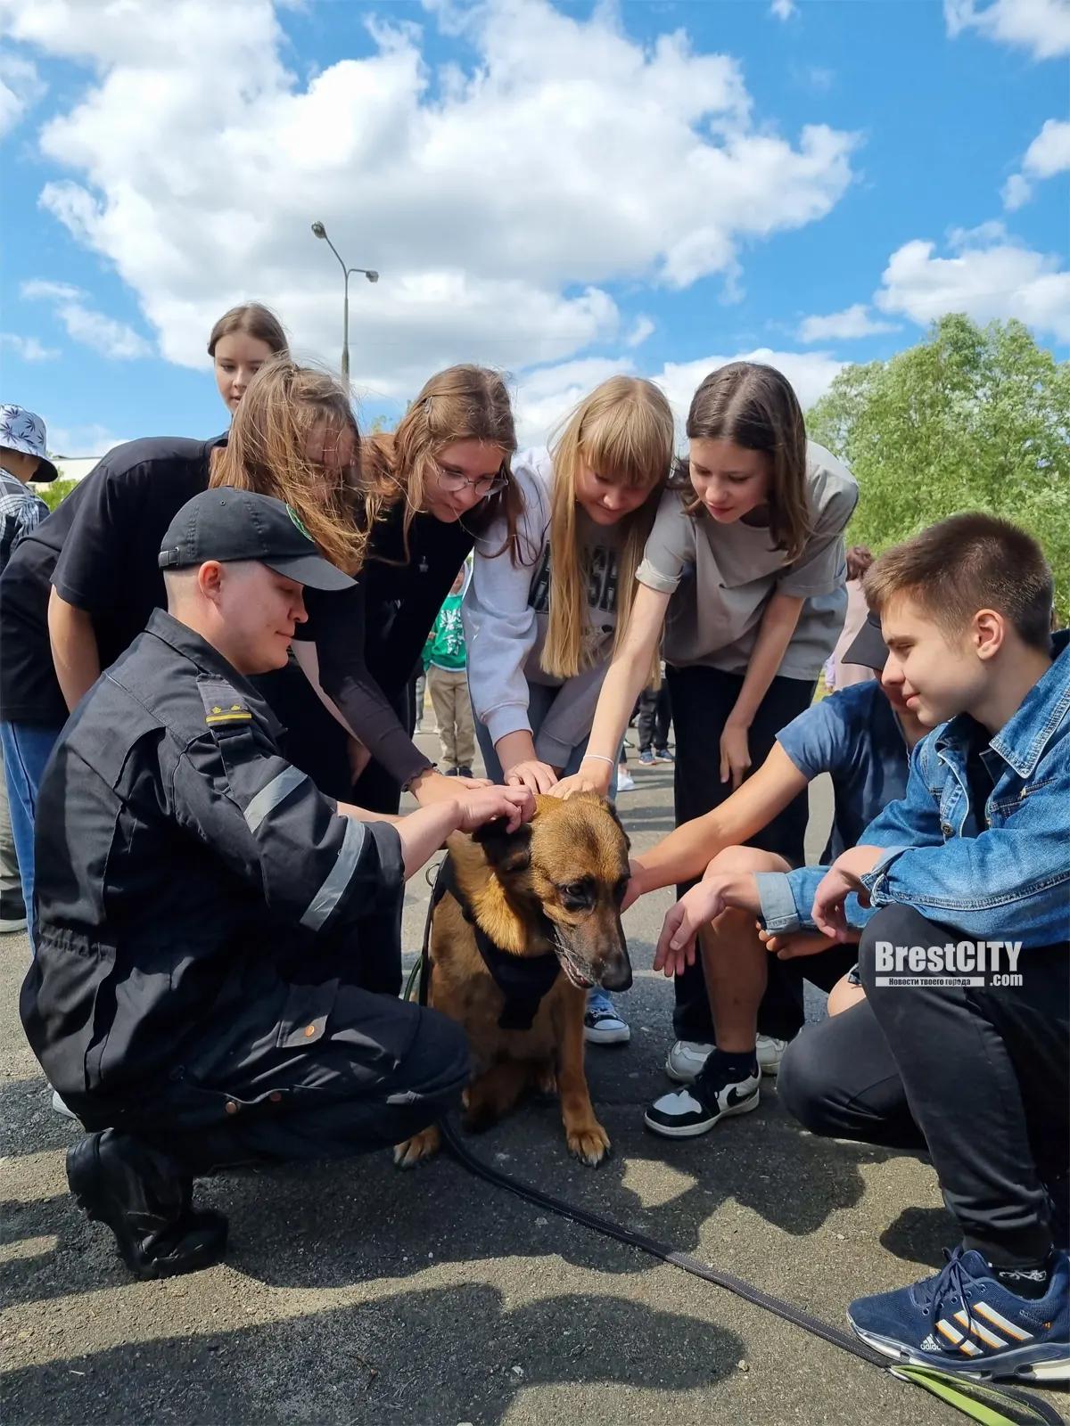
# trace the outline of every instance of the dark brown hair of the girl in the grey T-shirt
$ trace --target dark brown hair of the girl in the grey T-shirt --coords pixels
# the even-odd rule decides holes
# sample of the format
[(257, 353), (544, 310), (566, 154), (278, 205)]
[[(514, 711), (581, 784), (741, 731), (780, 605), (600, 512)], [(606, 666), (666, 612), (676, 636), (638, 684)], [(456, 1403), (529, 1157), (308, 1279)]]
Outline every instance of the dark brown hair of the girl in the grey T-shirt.
[[(806, 422), (792, 384), (775, 366), (733, 361), (712, 371), (695, 392), (688, 411), (691, 441), (730, 441), (745, 451), (763, 451), (772, 466), (769, 483), (769, 533), (773, 549), (798, 559), (810, 536), (810, 502), (806, 486)], [(698, 515), (688, 468), (673, 481), (691, 492), (686, 511)]]

